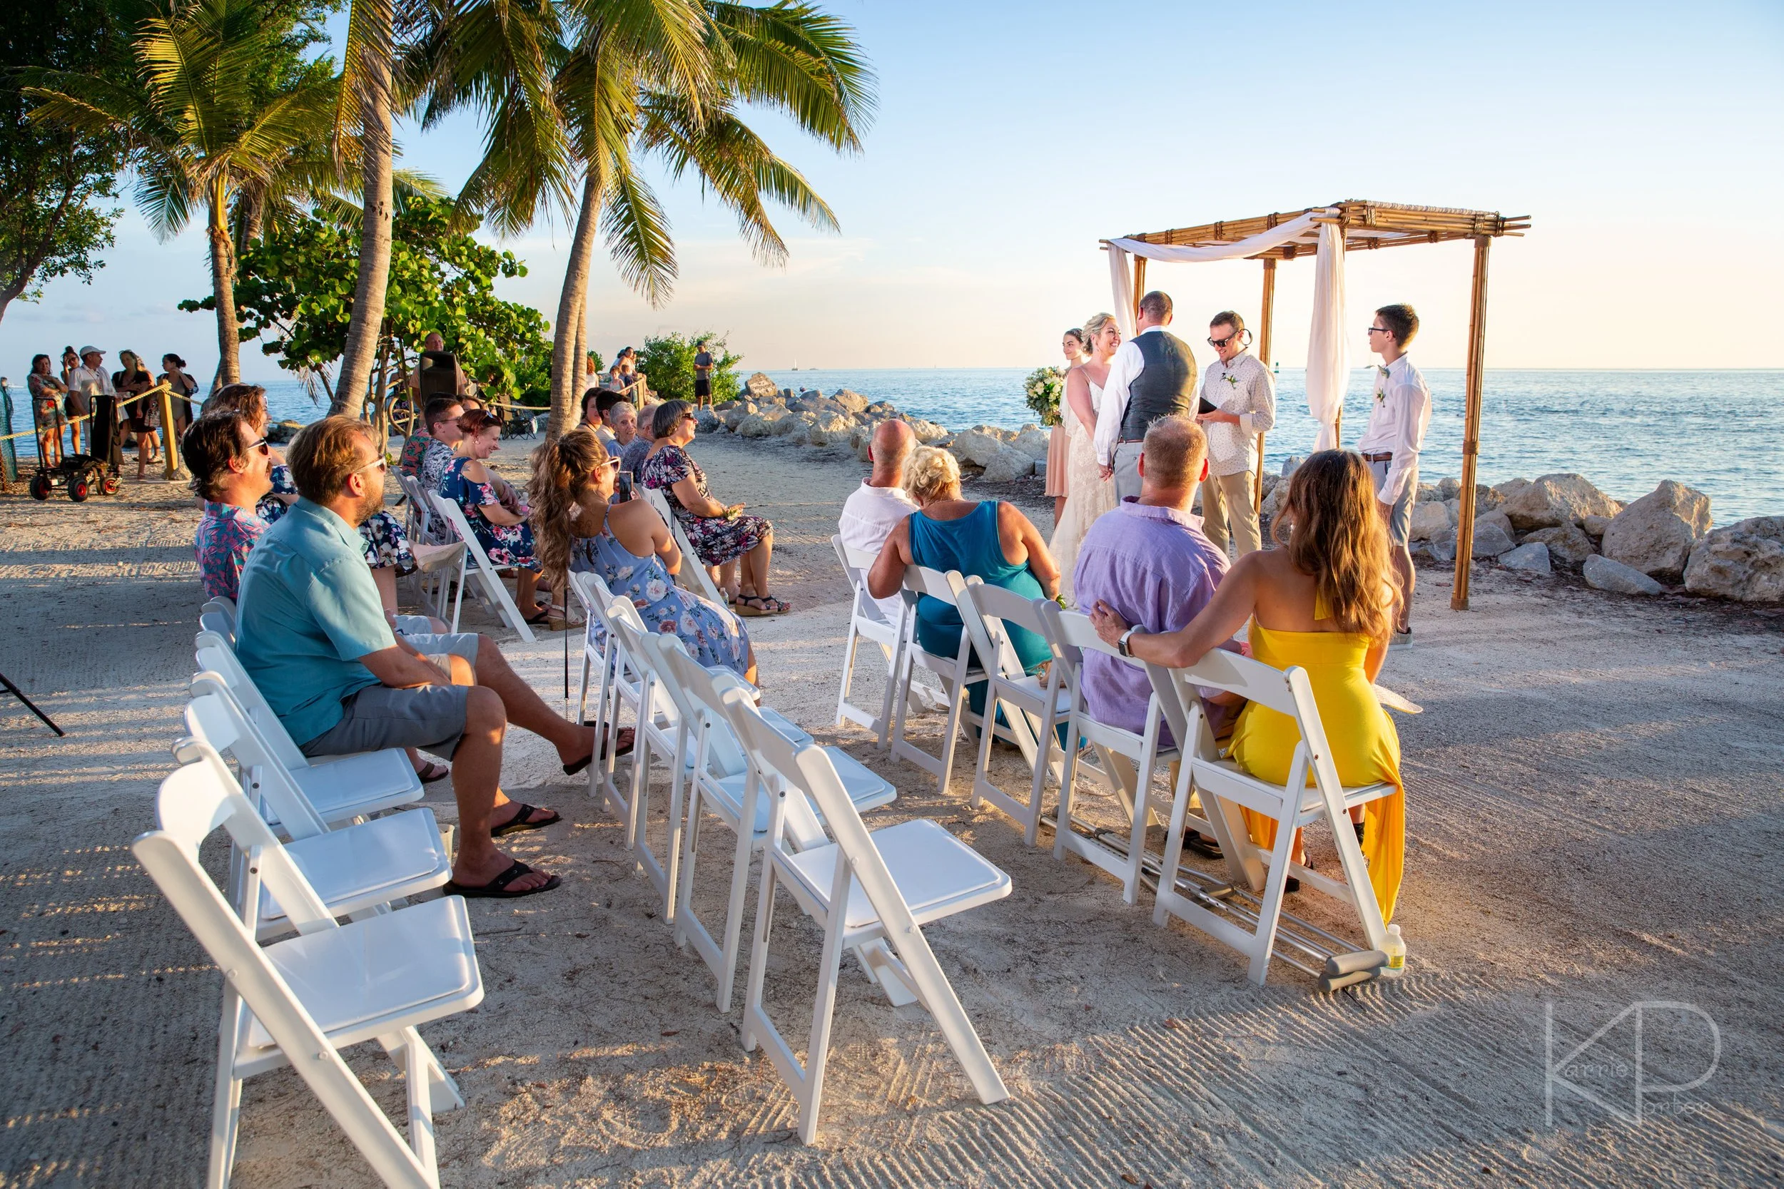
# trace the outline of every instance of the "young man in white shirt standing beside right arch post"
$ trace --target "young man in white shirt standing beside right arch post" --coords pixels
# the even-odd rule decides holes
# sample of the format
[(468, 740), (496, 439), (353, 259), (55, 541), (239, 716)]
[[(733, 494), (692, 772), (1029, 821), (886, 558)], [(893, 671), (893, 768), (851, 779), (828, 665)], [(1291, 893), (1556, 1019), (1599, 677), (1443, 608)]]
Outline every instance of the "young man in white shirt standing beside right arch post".
[(1413, 642), (1413, 553), (1408, 545), (1413, 501), (1418, 499), (1418, 449), (1431, 428), (1431, 389), (1406, 357), (1418, 333), (1418, 314), (1409, 305), (1384, 305), (1368, 328), (1368, 348), (1381, 357), (1368, 428), (1356, 449), (1375, 474), (1375, 510), (1388, 526), (1393, 576), (1400, 586), (1400, 622), (1393, 645)]

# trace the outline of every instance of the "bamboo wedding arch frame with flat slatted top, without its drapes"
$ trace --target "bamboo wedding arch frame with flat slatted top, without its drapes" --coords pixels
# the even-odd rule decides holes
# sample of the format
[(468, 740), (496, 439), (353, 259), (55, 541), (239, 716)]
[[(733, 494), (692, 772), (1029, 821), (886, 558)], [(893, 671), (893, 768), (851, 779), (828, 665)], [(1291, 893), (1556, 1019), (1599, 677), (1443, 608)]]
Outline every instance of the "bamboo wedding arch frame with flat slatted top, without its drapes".
[[(1286, 242), (1276, 242), (1254, 253), (1231, 258), (1263, 260), (1263, 316), (1258, 319), (1258, 360), (1270, 367), (1272, 323), (1276, 312), (1276, 264), (1277, 260), (1313, 260), (1317, 257), (1324, 228), (1336, 228), (1343, 251), (1375, 251), (1381, 248), (1404, 248), (1411, 244), (1441, 244), (1449, 241), (1474, 241), (1474, 291), (1468, 305), (1468, 367), (1466, 367), (1466, 426), (1461, 440), (1461, 517), (1456, 524), (1456, 583), (1450, 592), (1450, 608), (1468, 610), (1468, 560), (1474, 553), (1474, 476), (1475, 456), (1481, 449), (1481, 373), (1486, 344), (1486, 251), (1500, 235), (1522, 235), (1531, 226), (1529, 216), (1502, 216), (1493, 210), (1456, 210), (1449, 207), (1408, 207), (1402, 203), (1368, 201), (1350, 198), (1327, 207), (1304, 207), (1301, 210), (1276, 212), (1251, 219), (1226, 219), (1204, 223), (1201, 226), (1177, 226), (1167, 232), (1145, 232), (1124, 235), (1119, 248), (1133, 253), (1133, 301), (1138, 316), (1138, 301), (1145, 292), (1145, 246), (1160, 248), (1208, 248), (1238, 244), (1247, 239), (1270, 239), (1276, 228), (1288, 230), (1286, 225), (1308, 219), (1308, 225)], [(1336, 237), (1327, 235), (1327, 242), (1336, 246)], [(1111, 241), (1104, 239), (1108, 248)], [(1210, 257), (1217, 258), (1217, 257)], [(1340, 406), (1338, 417), (1343, 415)], [(1336, 440), (1338, 422), (1333, 437)], [(1258, 485), (1252, 501), (1263, 503), (1263, 435), (1258, 435)]]

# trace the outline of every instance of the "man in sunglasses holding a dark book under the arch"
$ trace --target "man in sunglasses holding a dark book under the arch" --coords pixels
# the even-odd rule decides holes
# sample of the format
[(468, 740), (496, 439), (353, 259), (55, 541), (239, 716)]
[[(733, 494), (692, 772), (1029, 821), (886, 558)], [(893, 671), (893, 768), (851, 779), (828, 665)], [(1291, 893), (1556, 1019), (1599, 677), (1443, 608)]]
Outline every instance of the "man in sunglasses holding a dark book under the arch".
[(1242, 558), (1263, 544), (1251, 497), (1258, 483), (1258, 435), (1276, 426), (1276, 383), (1270, 369), (1245, 349), (1249, 339), (1245, 319), (1233, 310), (1208, 323), (1208, 346), (1220, 358), (1202, 380), (1202, 399), (1215, 412), (1195, 417), (1208, 433), (1202, 533), (1226, 556), (1231, 526)]

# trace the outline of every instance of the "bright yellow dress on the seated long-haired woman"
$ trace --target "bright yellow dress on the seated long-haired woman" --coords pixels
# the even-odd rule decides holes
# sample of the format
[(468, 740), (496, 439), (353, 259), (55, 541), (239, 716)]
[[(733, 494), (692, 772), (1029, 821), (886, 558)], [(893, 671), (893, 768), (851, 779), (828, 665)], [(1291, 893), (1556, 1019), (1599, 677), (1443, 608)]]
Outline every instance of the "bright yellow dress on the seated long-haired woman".
[[(1324, 619), (1315, 606), (1315, 619)], [(1320, 708), (1326, 742), (1338, 767), (1338, 781), (1356, 784), (1393, 784), (1399, 791), (1363, 808), (1363, 857), (1368, 882), (1375, 888), (1381, 918), (1393, 920), (1393, 902), (1400, 895), (1400, 866), (1406, 859), (1406, 786), (1400, 783), (1400, 734), (1375, 699), (1363, 660), (1368, 636), (1347, 631), (1270, 631), (1251, 620), (1252, 656), (1272, 668), (1301, 665), (1313, 685), (1313, 702)], [(1227, 756), (1261, 781), (1281, 784), (1295, 758), (1301, 733), (1295, 720), (1256, 702), (1245, 706), (1233, 729)], [(1313, 775), (1308, 774), (1308, 786)], [(1251, 840), (1260, 847), (1276, 845), (1276, 818), (1245, 809)]]

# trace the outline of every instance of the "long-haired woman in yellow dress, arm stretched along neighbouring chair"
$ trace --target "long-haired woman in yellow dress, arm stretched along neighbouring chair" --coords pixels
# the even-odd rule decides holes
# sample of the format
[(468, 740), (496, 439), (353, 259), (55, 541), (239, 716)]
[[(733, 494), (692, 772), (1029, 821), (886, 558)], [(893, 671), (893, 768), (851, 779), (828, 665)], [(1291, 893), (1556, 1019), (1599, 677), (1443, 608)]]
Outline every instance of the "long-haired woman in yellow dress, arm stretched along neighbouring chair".
[[(1383, 510), (1361, 455), (1327, 449), (1301, 463), (1288, 481), (1288, 497), (1277, 501), (1270, 537), (1281, 547), (1240, 558), (1183, 631), (1135, 633), (1127, 649), (1140, 660), (1185, 668), (1249, 620), (1256, 660), (1308, 672), (1338, 779), (1347, 786), (1388, 783), (1399, 790), (1361, 811), (1368, 881), (1383, 920), (1392, 920), (1406, 852), (1406, 786), (1400, 736), (1372, 686), (1388, 654), (1399, 594)], [(1127, 631), (1126, 620), (1104, 603), (1090, 619), (1110, 644)], [(1249, 704), (1227, 756), (1258, 779), (1281, 783), (1299, 742), (1292, 718)], [(1252, 841), (1274, 845), (1274, 818), (1247, 809), (1245, 822)], [(1293, 857), (1304, 861), (1301, 838)]]

